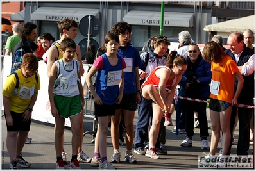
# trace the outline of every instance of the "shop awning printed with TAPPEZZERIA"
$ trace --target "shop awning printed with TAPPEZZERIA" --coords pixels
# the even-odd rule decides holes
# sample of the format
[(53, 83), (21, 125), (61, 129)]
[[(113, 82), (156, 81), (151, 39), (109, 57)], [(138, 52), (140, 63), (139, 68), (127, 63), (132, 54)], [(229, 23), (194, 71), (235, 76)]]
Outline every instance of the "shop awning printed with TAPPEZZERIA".
[(99, 18), (99, 10), (87, 8), (39, 7), (31, 14), (31, 20), (60, 21), (69, 18), (80, 22), (86, 15), (94, 15)]

